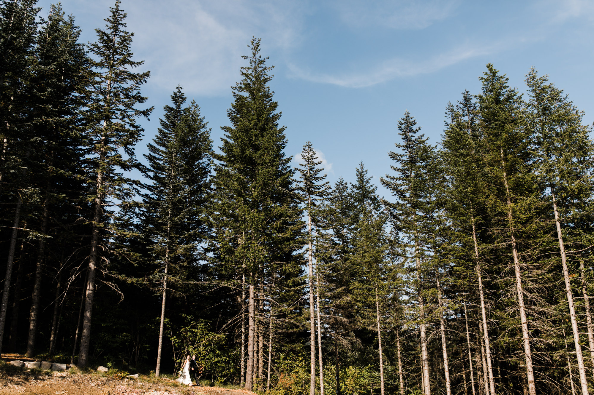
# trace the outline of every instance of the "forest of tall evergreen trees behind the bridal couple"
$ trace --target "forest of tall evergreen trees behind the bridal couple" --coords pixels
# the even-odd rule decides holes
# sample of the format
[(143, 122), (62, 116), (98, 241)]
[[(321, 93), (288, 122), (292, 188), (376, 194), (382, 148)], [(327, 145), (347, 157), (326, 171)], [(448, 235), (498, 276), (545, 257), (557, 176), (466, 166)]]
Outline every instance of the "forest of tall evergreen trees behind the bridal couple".
[(60, 4), (0, 2), (3, 353), (156, 377), (195, 353), (271, 395), (594, 392), (592, 128), (546, 74), (486, 65), (438, 144), (394, 114), (385, 175), (330, 184), (315, 142), (285, 152), (259, 39), (214, 142), (181, 86), (147, 108), (105, 11), (85, 44)]

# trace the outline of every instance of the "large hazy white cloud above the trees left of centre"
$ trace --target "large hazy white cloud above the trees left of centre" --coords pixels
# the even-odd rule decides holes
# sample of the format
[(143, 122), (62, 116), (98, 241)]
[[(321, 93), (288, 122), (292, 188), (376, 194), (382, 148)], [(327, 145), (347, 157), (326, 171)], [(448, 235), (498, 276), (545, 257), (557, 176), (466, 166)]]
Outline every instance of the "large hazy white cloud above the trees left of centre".
[(228, 93), (252, 36), (265, 37), (263, 53), (270, 53), (294, 46), (301, 30), (301, 12), (289, 1), (129, 0), (125, 7), (151, 83), (182, 84), (192, 94)]

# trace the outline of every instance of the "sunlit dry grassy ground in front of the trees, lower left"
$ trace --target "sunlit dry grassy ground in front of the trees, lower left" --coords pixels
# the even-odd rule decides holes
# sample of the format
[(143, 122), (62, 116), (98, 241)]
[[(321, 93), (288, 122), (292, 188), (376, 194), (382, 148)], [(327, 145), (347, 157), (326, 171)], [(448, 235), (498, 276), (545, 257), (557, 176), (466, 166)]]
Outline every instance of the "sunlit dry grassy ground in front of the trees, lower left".
[(127, 378), (125, 372), (53, 372), (13, 367), (0, 362), (1, 395), (256, 395), (253, 392), (209, 386), (182, 386), (169, 378), (139, 375)]

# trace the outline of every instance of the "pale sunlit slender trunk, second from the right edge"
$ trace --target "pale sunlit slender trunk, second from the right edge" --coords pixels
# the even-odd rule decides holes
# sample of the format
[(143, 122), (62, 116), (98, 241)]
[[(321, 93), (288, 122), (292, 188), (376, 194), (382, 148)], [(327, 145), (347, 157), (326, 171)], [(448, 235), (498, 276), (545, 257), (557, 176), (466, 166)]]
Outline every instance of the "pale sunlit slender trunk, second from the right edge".
[[(563, 234), (561, 233), (561, 221), (557, 210), (557, 200), (555, 200), (555, 189), (551, 184), (551, 199), (553, 201), (553, 211), (555, 213), (555, 224), (557, 225), (557, 238), (559, 240), (559, 251), (561, 252), (561, 265), (563, 265), (563, 278), (565, 279), (565, 293), (567, 293), (567, 305), (569, 307), (569, 316), (571, 320), (571, 330), (573, 331), (573, 343), (576, 346), (577, 371), (580, 373), (580, 384), (582, 385), (582, 395), (588, 395), (588, 381), (586, 378), (586, 368), (584, 367), (584, 357), (582, 355), (582, 346), (580, 346), (580, 332), (577, 327), (576, 309), (573, 306), (573, 292), (571, 292), (571, 282), (569, 280), (569, 269), (567, 267), (567, 257), (565, 256), (565, 245), (563, 243)], [(572, 381), (573, 383), (573, 381)]]

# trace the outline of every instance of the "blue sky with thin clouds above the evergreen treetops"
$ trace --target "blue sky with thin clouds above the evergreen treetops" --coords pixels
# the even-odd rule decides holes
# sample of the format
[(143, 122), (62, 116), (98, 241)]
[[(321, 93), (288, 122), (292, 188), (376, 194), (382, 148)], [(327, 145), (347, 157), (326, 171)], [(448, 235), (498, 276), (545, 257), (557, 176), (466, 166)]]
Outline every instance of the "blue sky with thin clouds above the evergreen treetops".
[[(47, 12), (49, 1), (38, 3)], [(113, 1), (63, 0), (83, 40), (94, 41)], [(437, 143), (445, 106), (492, 62), (524, 90), (531, 66), (549, 74), (594, 120), (594, 1), (251, 1), (123, 0), (136, 60), (151, 71), (143, 94), (155, 106), (144, 120), (146, 152), (176, 85), (195, 98), (219, 146), (228, 125), (230, 86), (252, 36), (274, 65), (271, 82), (287, 127), (287, 154), (311, 141), (328, 179), (352, 181), (359, 161), (375, 183), (390, 171), (405, 110)], [(381, 195), (387, 195), (381, 186)]]

